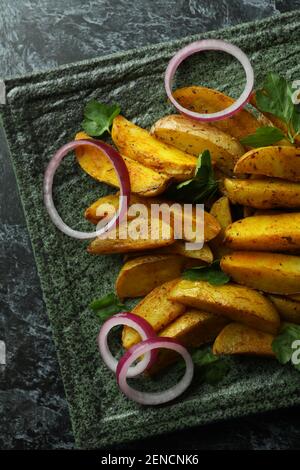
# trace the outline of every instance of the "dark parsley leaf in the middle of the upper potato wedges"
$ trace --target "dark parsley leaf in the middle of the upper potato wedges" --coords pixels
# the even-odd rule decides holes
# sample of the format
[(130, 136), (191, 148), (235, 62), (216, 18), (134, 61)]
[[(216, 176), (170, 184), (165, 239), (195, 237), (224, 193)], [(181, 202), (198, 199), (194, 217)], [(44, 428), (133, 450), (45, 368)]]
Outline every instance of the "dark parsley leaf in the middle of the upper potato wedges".
[(192, 203), (208, 202), (218, 192), (209, 150), (204, 150), (199, 157), (194, 177), (177, 184), (168, 191), (168, 197), (177, 201)]

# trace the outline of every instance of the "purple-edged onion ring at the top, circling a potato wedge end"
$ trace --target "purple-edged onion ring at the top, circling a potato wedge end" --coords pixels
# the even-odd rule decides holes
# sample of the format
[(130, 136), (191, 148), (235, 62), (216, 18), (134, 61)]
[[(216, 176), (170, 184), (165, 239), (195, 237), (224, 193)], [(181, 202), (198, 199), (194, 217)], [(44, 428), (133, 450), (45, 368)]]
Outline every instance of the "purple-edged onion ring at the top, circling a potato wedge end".
[[(243, 66), (246, 73), (246, 85), (243, 93), (240, 97), (228, 108), (222, 111), (210, 114), (201, 114), (181, 106), (178, 101), (175, 100), (172, 94), (172, 80), (181, 62), (187, 57), (201, 51), (223, 51), (234, 56)], [(246, 54), (237, 46), (229, 42), (222, 41), (220, 39), (203, 39), (202, 41), (192, 42), (186, 47), (180, 49), (174, 57), (170, 60), (166, 73), (165, 73), (165, 89), (169, 100), (175, 106), (175, 108), (185, 116), (195, 119), (197, 121), (218, 121), (221, 119), (228, 118), (233, 114), (237, 113), (243, 108), (250, 99), (252, 89), (254, 85), (254, 72), (251, 63)]]

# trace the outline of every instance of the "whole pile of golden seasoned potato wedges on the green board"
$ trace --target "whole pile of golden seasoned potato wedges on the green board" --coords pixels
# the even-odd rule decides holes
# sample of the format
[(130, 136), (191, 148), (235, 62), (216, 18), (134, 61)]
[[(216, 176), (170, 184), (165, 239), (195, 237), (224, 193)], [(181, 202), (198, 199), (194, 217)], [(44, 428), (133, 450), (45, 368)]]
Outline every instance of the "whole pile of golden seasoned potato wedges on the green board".
[[(233, 102), (205, 87), (182, 88), (174, 96), (201, 113), (220, 111)], [(133, 312), (159, 335), (188, 348), (213, 342), (215, 354), (272, 357), (281, 322), (300, 324), (300, 149), (285, 140), (256, 149), (240, 143), (266, 120), (272, 121), (246, 109), (213, 124), (170, 115), (148, 132), (122, 116), (114, 119), (112, 140), (129, 171), (130, 204), (150, 208), (152, 203), (174, 202), (164, 197), (170, 183), (192, 178), (204, 150), (212, 156), (222, 194), (204, 214), (203, 248), (186, 250), (185, 242), (191, 240), (177, 239), (176, 214), (171, 227), (161, 222), (157, 240), (100, 237), (88, 247), (91, 254), (124, 253), (116, 280), (119, 297), (143, 297)], [(90, 137), (80, 132), (76, 139), (81, 138)], [(89, 175), (118, 188), (114, 169), (99, 150), (82, 146), (76, 156)], [(97, 224), (107, 215), (106, 203), (117, 208), (118, 192), (94, 202), (85, 217)], [(243, 209), (242, 218), (233, 217), (236, 206)], [(122, 224), (118, 230), (122, 232)], [(221, 259), (229, 283), (216, 286), (181, 278), (186, 268), (214, 259)], [(124, 328), (125, 348), (139, 340), (134, 330)], [(172, 353), (162, 351), (153, 373), (174, 360)]]

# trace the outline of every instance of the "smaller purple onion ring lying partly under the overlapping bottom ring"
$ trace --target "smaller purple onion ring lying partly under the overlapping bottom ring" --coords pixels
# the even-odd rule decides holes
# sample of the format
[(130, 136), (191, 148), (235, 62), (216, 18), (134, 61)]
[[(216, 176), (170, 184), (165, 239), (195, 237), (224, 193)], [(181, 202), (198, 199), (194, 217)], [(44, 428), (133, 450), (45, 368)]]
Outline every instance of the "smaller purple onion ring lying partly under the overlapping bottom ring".
[[(149, 338), (156, 337), (156, 333), (153, 330), (150, 323), (148, 323), (144, 318), (135, 315), (134, 313), (130, 312), (122, 312), (116, 315), (113, 315), (105, 323), (103, 323), (99, 335), (98, 335), (98, 346), (100, 350), (100, 354), (102, 356), (103, 361), (107, 365), (107, 367), (116, 372), (118, 361), (113, 357), (110, 352), (110, 349), (107, 344), (107, 336), (110, 330), (114, 326), (118, 325), (126, 325), (134, 328), (139, 335), (141, 336), (142, 340), (147, 340)], [(140, 343), (139, 343), (140, 344)], [(139, 356), (136, 356), (138, 358)], [(139, 361), (135, 366), (128, 367), (126, 370), (127, 377), (135, 377), (142, 372), (144, 372), (147, 367), (151, 367), (157, 357), (157, 351), (149, 351), (144, 354), (143, 359)], [(132, 361), (133, 362), (133, 361)], [(131, 364), (132, 364), (131, 362)]]

